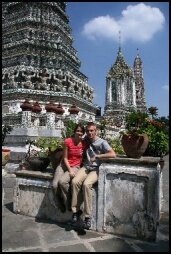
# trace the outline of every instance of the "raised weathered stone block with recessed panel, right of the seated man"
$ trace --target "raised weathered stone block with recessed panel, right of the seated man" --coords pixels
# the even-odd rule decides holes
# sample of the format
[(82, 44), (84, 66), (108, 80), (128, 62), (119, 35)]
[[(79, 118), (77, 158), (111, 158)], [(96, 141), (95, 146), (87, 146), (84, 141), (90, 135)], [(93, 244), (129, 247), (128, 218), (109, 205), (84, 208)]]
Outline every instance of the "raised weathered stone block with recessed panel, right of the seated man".
[(106, 159), (99, 167), (97, 230), (156, 240), (161, 200), (159, 159)]

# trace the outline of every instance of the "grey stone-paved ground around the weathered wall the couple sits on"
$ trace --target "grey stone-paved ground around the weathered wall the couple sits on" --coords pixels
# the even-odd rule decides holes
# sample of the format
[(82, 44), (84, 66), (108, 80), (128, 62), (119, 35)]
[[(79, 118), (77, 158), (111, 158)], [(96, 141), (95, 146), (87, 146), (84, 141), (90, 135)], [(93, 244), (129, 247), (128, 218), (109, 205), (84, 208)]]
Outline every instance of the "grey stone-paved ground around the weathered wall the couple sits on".
[(169, 252), (169, 157), (163, 168), (162, 217), (156, 242), (73, 229), (69, 225), (13, 213), (15, 177), (2, 178), (3, 252)]

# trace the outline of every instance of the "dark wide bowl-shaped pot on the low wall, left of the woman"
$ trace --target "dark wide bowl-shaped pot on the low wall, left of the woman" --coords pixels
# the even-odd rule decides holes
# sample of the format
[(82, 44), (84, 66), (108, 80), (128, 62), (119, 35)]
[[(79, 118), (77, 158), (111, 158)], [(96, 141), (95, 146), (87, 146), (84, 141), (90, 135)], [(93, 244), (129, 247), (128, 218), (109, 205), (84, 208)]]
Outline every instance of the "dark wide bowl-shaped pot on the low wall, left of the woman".
[(25, 168), (33, 171), (45, 171), (49, 165), (49, 158), (30, 157), (25, 162)]

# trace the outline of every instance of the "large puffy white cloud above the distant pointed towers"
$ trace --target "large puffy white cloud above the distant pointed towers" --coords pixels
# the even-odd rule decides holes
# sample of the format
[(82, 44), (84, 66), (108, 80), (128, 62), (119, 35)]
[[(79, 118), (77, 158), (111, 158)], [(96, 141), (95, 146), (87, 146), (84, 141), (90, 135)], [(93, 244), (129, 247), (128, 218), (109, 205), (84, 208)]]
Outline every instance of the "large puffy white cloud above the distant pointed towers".
[(118, 32), (121, 31), (122, 42), (146, 42), (163, 28), (165, 22), (159, 8), (144, 3), (129, 5), (121, 14), (118, 20), (109, 15), (91, 19), (84, 25), (83, 34), (89, 39), (107, 38), (118, 41)]

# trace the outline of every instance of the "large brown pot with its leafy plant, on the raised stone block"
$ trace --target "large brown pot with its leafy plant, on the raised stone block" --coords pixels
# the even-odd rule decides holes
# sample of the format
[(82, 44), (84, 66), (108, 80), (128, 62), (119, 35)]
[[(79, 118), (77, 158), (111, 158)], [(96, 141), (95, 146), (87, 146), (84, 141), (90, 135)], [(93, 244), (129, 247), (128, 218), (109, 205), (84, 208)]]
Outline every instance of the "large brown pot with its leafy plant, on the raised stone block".
[(131, 112), (125, 119), (125, 132), (120, 132), (125, 154), (130, 158), (140, 158), (148, 147), (149, 139), (145, 133), (148, 114)]

